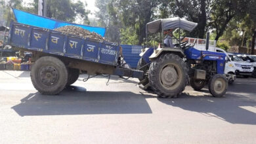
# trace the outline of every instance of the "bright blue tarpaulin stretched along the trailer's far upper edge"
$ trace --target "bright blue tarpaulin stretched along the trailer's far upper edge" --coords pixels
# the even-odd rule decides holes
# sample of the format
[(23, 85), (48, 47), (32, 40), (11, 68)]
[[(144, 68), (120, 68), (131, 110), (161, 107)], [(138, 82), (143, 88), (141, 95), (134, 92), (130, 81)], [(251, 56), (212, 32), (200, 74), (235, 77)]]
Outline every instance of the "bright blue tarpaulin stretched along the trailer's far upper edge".
[(31, 14), (29, 12), (24, 12), (18, 9), (12, 9), (12, 10), (17, 22), (22, 24), (28, 24), (31, 26), (42, 27), (46, 29), (56, 29), (58, 27), (63, 27), (63, 26), (79, 26), (79, 27), (82, 27), (83, 29), (87, 29), (88, 31), (91, 31), (91, 32), (94, 31), (95, 33), (98, 33), (102, 37), (104, 37), (105, 31), (106, 31), (104, 27), (92, 27), (92, 26), (85, 26), (80, 24), (73, 24), (73, 23), (64, 22), (61, 20), (54, 20), (53, 18), (38, 16), (36, 14)]

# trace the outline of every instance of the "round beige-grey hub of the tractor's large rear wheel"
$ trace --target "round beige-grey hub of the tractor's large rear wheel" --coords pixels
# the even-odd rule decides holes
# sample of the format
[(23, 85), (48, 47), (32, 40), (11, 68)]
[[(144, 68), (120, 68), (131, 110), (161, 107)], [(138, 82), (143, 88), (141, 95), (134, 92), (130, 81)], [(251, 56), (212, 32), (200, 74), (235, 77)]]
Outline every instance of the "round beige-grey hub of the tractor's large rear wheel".
[(161, 82), (167, 87), (173, 86), (178, 79), (177, 71), (172, 66), (167, 66), (161, 71)]

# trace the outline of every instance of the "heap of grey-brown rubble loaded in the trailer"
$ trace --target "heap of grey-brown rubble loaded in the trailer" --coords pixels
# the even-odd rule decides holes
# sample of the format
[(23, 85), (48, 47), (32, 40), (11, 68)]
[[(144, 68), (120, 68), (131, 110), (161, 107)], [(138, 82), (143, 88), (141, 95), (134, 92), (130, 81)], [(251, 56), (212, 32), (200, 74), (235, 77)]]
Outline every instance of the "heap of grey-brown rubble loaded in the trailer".
[(54, 31), (60, 31), (64, 34), (76, 35), (78, 37), (95, 39), (98, 42), (107, 41), (104, 37), (95, 32), (90, 32), (82, 27), (77, 26), (64, 26), (54, 29)]

